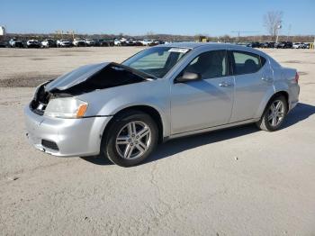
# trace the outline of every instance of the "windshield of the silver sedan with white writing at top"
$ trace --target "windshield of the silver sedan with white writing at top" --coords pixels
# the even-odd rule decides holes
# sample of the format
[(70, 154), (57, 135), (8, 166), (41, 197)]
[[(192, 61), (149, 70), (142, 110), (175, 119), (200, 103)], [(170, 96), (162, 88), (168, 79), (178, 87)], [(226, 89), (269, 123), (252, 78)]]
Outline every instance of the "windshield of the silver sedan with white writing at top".
[(122, 65), (138, 69), (153, 77), (164, 77), (188, 51), (189, 49), (183, 48), (150, 48), (125, 60)]

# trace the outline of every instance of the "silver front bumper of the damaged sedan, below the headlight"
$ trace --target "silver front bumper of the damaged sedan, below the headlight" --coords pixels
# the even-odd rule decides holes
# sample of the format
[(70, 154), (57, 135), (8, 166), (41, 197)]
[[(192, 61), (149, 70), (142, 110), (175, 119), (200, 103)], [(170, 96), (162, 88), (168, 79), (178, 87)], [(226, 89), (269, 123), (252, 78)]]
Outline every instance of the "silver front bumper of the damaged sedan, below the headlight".
[[(100, 152), (103, 130), (111, 116), (49, 118), (24, 108), (27, 138), (36, 149), (55, 156), (92, 156)], [(53, 143), (50, 146), (47, 143)], [(57, 146), (55, 148), (54, 146)]]

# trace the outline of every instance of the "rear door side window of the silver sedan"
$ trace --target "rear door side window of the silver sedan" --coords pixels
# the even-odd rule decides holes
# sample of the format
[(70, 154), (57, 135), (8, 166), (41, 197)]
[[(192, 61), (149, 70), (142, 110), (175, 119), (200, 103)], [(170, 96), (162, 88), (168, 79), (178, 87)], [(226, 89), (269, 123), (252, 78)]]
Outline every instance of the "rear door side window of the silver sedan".
[(259, 55), (245, 51), (232, 51), (232, 56), (234, 58), (234, 75), (256, 73), (263, 66), (261, 62), (264, 64), (266, 62), (266, 59), (260, 58)]

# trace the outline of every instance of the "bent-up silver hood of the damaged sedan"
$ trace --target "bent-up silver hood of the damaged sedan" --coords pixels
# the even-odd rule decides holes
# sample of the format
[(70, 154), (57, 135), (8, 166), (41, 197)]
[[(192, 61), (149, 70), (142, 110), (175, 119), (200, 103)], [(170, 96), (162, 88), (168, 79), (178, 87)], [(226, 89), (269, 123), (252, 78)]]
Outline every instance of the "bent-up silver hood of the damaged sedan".
[(86, 65), (80, 68), (76, 68), (75, 70), (62, 75), (55, 80), (51, 81), (46, 87), (46, 91), (51, 91), (53, 89), (58, 90), (66, 90), (71, 86), (76, 86), (82, 82), (84, 82), (89, 77), (93, 76), (94, 73), (106, 67), (109, 62), (99, 63), (99, 64), (91, 64)]

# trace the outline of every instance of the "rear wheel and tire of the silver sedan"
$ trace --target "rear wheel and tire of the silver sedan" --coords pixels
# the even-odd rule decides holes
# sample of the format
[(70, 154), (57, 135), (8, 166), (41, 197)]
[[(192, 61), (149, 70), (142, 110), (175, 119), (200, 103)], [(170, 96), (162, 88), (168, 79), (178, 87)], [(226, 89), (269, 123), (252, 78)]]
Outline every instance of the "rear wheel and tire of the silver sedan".
[[(279, 107), (277, 108), (277, 105)], [(276, 95), (266, 105), (261, 119), (256, 123), (260, 130), (275, 132), (280, 129), (288, 113), (288, 103), (284, 95)]]

